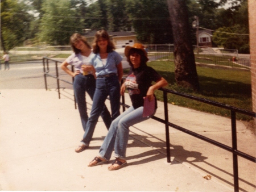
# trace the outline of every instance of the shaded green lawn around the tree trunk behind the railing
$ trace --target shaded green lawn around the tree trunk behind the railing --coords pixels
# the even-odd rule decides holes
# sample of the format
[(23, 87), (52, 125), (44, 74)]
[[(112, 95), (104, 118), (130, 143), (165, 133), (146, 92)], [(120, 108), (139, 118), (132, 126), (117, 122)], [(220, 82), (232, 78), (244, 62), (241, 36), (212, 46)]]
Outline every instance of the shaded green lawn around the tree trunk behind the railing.
[[(249, 71), (212, 69), (197, 66), (200, 91), (195, 92), (177, 86), (174, 62), (151, 61), (148, 62), (148, 66), (152, 66), (152, 68), (158, 71), (168, 81), (169, 85), (166, 87), (167, 89), (252, 111), (251, 73)], [(127, 73), (127, 70), (125, 72)], [(155, 94), (160, 101), (163, 101), (162, 91), (156, 90)], [(172, 103), (173, 105), (230, 117), (230, 111), (220, 107), (211, 106), (174, 94), (168, 94), (167, 98), (168, 103)], [(237, 114), (237, 119), (251, 120), (252, 118), (247, 115)]]

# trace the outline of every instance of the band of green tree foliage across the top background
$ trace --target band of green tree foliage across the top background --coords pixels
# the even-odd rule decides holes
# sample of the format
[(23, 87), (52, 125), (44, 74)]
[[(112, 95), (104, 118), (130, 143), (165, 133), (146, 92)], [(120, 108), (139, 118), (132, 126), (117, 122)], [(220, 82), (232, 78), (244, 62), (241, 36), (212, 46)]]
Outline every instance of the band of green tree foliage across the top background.
[[(88, 2), (91, 3), (88, 5)], [(195, 33), (190, 24), (195, 15), (199, 17), (200, 27), (209, 30), (239, 25), (241, 31), (248, 31), (247, 0), (184, 2), (188, 7), (191, 34)], [(231, 3), (230, 7), (221, 8), (226, 2)], [(29, 11), (38, 16), (34, 17)], [(73, 32), (101, 28), (134, 30), (137, 39), (144, 44), (174, 42), (166, 0), (1, 0), (1, 42), (7, 49), (26, 39), (64, 45)], [(196, 44), (195, 36), (192, 36), (192, 43)]]

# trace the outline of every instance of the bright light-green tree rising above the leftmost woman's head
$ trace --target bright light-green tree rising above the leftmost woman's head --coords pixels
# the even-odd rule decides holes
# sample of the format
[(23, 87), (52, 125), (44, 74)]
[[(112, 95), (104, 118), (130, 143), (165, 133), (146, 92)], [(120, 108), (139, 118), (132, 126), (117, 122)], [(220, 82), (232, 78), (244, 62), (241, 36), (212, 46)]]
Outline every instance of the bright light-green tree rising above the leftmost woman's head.
[(41, 42), (51, 45), (67, 45), (74, 32), (82, 32), (82, 20), (72, 9), (71, 0), (45, 0), (42, 5), (44, 14), (38, 34)]

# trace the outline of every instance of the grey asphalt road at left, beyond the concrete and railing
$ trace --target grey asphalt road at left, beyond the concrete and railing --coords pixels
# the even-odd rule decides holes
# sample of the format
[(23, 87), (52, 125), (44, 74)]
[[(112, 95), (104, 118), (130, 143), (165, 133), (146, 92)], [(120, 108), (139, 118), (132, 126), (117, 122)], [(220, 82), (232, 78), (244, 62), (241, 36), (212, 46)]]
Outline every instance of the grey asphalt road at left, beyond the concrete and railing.
[[(56, 59), (59, 60), (59, 59)], [(64, 59), (62, 59), (64, 60)], [(59, 60), (61, 61), (61, 60)], [(60, 65), (60, 62), (58, 63)], [(126, 58), (122, 61), (123, 68), (129, 68)], [(72, 77), (66, 74), (60, 67), (57, 68), (59, 78), (72, 82)], [(49, 62), (49, 74), (56, 76), (55, 62)], [(10, 63), (10, 70), (0, 70), (0, 90), (1, 89), (44, 89), (43, 61), (27, 61), (21, 63)], [(72, 85), (60, 81), (62, 89), (72, 89)], [(57, 81), (53, 77), (47, 77), (47, 89), (56, 89)]]

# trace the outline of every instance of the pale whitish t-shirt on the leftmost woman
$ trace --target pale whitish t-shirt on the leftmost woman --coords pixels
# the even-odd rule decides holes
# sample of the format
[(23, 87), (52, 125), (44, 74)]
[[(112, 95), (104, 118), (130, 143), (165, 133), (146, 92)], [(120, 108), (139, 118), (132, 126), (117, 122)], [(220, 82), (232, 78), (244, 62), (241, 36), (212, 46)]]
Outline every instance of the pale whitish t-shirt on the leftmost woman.
[(82, 56), (81, 53), (79, 53), (79, 54), (72, 53), (71, 56), (69, 56), (66, 59), (66, 61), (69, 65), (75, 66), (75, 70), (80, 70), (80, 72), (82, 73), (83, 71), (81, 69), (81, 66), (82, 65), (92, 65), (90, 63), (90, 61), (92, 60), (92, 58), (94, 56), (95, 56), (95, 54), (93, 52), (91, 52), (88, 57)]

